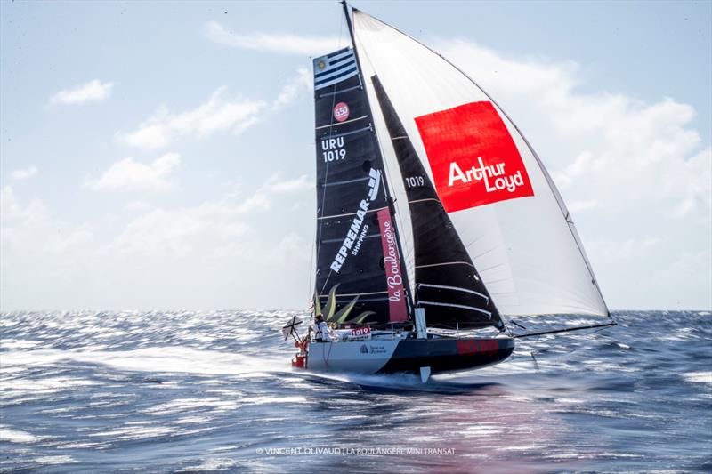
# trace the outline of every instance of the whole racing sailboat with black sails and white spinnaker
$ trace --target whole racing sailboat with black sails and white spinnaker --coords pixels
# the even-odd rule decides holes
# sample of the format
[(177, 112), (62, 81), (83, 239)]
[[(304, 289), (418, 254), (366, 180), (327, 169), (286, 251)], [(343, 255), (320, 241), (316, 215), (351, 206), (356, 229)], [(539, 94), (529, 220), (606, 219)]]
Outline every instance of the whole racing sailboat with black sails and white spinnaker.
[[(313, 60), (313, 314), (330, 329), (287, 323), (293, 366), (426, 382), (502, 362), (519, 337), (615, 325), (510, 117), (449, 60), (342, 5), (352, 44)], [(605, 320), (514, 334), (504, 317), (524, 315)]]

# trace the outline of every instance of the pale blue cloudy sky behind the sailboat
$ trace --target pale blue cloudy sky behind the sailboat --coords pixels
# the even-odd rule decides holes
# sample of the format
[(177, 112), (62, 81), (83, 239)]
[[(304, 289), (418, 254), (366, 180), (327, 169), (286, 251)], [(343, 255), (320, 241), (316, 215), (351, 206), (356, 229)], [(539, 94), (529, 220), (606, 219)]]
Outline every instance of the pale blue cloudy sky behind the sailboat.
[[(478, 81), (611, 309), (712, 308), (712, 3), (356, 2)], [(306, 309), (336, 2), (0, 2), (0, 309)]]

